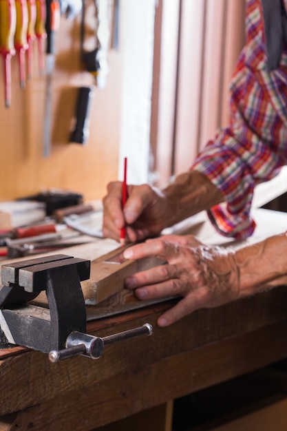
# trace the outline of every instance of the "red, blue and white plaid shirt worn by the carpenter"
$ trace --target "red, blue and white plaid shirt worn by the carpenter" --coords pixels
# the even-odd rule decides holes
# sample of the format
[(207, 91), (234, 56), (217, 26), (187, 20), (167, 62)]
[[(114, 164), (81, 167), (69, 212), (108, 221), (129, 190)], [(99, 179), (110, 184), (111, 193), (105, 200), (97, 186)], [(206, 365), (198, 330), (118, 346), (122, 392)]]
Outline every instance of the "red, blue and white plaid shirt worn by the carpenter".
[(223, 235), (238, 239), (255, 229), (250, 213), (255, 185), (287, 164), (287, 49), (272, 72), (266, 59), (262, 5), (247, 0), (246, 45), (231, 80), (229, 125), (206, 144), (191, 167), (225, 198), (208, 211), (211, 222)]

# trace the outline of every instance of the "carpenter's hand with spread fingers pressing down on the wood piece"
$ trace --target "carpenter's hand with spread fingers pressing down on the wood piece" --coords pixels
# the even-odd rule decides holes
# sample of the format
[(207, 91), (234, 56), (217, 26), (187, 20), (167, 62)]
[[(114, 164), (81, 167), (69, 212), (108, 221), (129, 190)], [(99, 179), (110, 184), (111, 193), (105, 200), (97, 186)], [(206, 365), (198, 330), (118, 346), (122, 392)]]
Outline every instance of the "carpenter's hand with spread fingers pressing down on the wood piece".
[(139, 299), (180, 295), (182, 299), (158, 319), (167, 326), (198, 308), (211, 308), (240, 297), (233, 251), (206, 246), (193, 235), (163, 235), (129, 247), (128, 259), (158, 256), (167, 264), (127, 277)]

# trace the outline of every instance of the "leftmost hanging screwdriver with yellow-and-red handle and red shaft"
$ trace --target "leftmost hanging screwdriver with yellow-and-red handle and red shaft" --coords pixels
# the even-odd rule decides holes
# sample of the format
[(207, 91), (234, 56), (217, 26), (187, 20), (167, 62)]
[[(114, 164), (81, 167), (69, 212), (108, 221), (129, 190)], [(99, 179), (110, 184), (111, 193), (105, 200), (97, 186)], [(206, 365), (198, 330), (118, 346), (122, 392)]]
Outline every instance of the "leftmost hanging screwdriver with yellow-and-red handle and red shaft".
[(0, 54), (4, 59), (5, 104), (11, 105), (11, 56), (15, 54), (16, 8), (14, 0), (0, 0)]

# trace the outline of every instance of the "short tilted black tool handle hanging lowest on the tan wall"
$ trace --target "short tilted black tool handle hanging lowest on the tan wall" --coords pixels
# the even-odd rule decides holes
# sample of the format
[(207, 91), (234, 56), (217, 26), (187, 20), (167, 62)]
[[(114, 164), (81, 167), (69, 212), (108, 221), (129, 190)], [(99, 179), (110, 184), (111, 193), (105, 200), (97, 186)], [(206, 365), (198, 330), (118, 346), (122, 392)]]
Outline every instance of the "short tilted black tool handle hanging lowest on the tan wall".
[(92, 87), (80, 87), (76, 102), (74, 129), (70, 135), (70, 142), (85, 144), (89, 138), (89, 107), (92, 99)]

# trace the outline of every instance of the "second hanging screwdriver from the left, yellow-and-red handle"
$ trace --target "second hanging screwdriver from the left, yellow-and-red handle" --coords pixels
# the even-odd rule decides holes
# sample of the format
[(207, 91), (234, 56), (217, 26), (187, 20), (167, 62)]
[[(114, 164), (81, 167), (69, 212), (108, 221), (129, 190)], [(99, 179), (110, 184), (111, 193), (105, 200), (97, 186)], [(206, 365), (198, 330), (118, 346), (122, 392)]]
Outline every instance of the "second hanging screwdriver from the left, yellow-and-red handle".
[(19, 56), (20, 87), (25, 87), (25, 51), (28, 50), (28, 6), (27, 0), (15, 0), (16, 5), (16, 31), (14, 36), (15, 49)]

